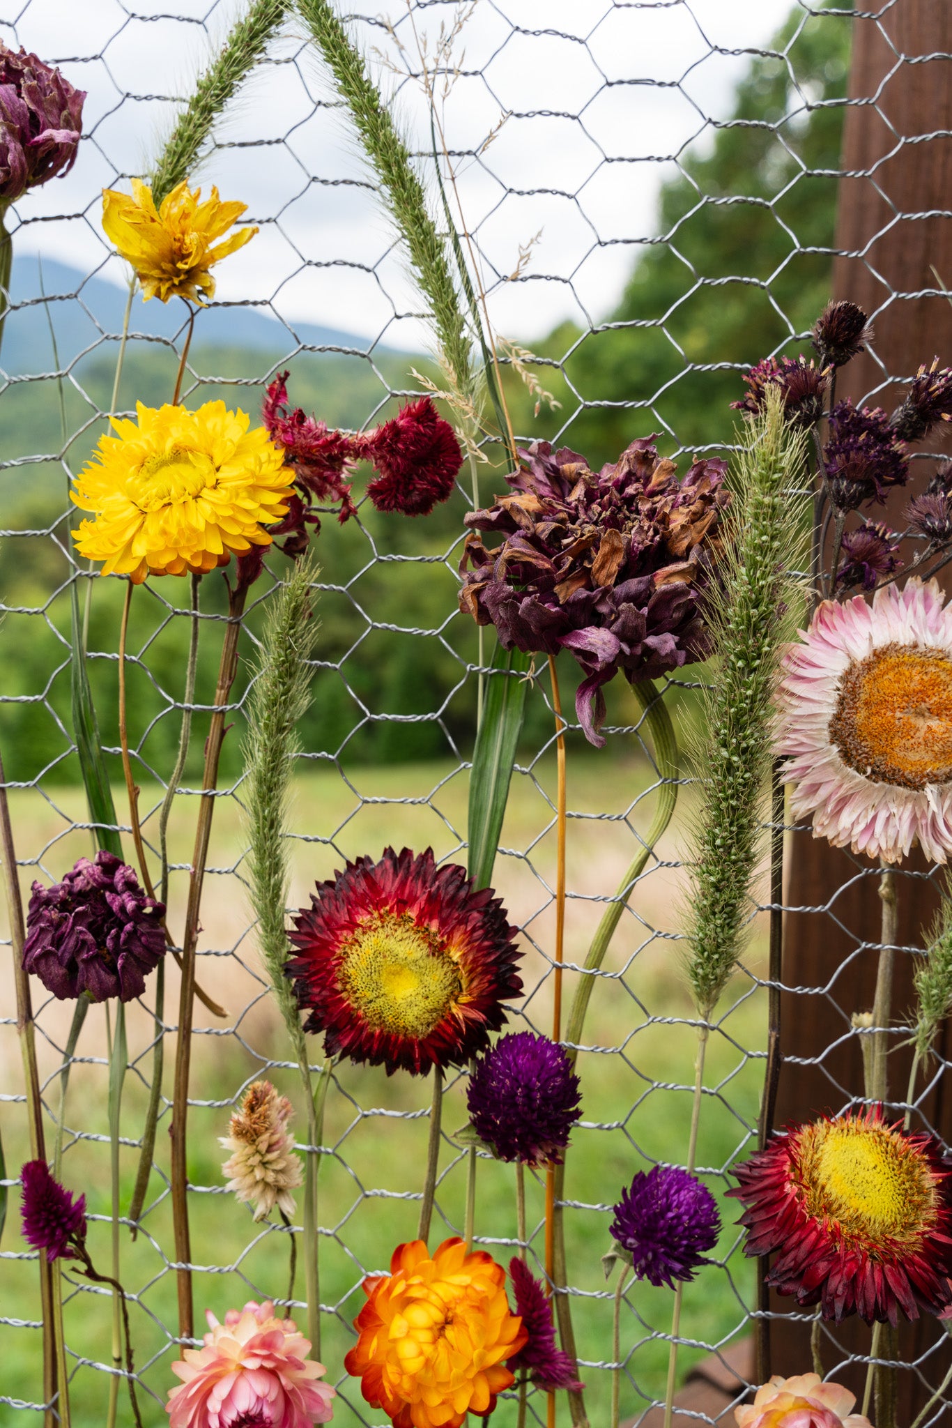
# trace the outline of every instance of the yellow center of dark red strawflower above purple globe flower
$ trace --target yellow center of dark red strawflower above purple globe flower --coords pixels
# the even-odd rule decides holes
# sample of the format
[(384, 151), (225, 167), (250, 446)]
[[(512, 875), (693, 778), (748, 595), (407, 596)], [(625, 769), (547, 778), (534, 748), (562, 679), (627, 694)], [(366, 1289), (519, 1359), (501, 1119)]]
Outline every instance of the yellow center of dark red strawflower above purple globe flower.
[(408, 912), (365, 922), (350, 940), (338, 975), (364, 1021), (398, 1037), (430, 1035), (462, 991), (444, 942)]

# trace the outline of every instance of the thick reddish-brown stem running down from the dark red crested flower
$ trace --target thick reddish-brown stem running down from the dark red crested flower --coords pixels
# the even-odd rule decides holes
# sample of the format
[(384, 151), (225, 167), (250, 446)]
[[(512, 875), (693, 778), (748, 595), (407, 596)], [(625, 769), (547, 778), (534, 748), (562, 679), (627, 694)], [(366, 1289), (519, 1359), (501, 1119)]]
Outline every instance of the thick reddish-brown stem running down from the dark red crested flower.
[(247, 590), (236, 585), (228, 591), (228, 623), (221, 644), (218, 684), (206, 740), (206, 767), (201, 781), (201, 801), (196, 823), (196, 847), (188, 878), (188, 905), (186, 910), (186, 931), (181, 942), (181, 990), (178, 998), (178, 1038), (176, 1044), (176, 1078), (173, 1090), (171, 1121), (171, 1205), (176, 1235), (176, 1271), (178, 1281), (178, 1334), (183, 1339), (193, 1337), (194, 1312), (191, 1301), (191, 1235), (188, 1231), (187, 1198), (187, 1124), (188, 1124), (188, 1074), (191, 1070), (191, 1025), (196, 998), (196, 945), (198, 941), (198, 914), (201, 911), (201, 888), (208, 858), (208, 840), (214, 814), (214, 791), (218, 783), (218, 758), (226, 734), (228, 694), (238, 667), (238, 634)]

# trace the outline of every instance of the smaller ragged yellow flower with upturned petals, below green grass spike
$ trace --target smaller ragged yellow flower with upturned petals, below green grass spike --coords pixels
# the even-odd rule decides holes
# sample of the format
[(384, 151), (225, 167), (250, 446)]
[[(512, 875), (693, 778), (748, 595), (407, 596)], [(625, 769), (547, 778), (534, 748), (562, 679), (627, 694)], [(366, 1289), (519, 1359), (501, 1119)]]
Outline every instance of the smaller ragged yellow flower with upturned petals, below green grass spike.
[(143, 298), (190, 297), (203, 303), (216, 291), (210, 268), (236, 248), (244, 247), (258, 231), (238, 228), (224, 243), (213, 247), (247, 208), (247, 203), (221, 203), (218, 190), (201, 200), (183, 180), (163, 198), (158, 208), (148, 184), (133, 178), (131, 197), (116, 188), (103, 188), (103, 228), (120, 257), (136, 268)]

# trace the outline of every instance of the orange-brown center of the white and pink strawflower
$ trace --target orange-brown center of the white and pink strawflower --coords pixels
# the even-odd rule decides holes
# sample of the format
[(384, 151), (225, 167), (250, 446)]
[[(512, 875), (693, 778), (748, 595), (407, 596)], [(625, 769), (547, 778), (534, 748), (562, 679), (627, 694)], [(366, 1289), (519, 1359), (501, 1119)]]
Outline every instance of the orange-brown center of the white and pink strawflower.
[(949, 783), (952, 660), (943, 650), (886, 644), (851, 664), (829, 737), (844, 761), (875, 783)]

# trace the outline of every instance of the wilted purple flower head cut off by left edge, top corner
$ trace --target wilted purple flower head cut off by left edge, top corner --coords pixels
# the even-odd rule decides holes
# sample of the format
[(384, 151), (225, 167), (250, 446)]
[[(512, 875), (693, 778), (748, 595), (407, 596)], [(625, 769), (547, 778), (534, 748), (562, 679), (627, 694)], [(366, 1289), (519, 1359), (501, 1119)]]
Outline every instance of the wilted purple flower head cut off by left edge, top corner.
[(0, 203), (70, 171), (84, 99), (36, 54), (0, 44)]

